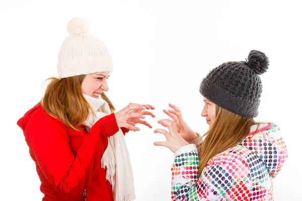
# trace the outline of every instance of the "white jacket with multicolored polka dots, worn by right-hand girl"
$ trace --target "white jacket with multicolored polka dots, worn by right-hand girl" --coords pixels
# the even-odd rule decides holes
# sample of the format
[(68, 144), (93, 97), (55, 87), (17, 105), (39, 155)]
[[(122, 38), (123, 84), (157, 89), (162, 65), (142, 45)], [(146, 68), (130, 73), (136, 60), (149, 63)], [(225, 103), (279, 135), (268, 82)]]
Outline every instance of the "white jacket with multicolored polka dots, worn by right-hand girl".
[(172, 200), (273, 200), (272, 178), (287, 159), (286, 145), (273, 124), (255, 130), (251, 128), (253, 132), (241, 143), (211, 158), (199, 178), (195, 144), (177, 150)]

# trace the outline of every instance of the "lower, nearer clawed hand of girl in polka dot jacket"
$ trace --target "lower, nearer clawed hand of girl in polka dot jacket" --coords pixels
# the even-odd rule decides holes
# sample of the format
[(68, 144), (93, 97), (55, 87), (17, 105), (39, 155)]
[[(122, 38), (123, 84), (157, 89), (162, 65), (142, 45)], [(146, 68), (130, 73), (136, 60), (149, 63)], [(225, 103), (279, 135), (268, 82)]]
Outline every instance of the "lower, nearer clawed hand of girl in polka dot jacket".
[(171, 151), (176, 152), (180, 147), (186, 146), (189, 143), (184, 140), (181, 135), (177, 132), (176, 124), (170, 119), (160, 120), (159, 123), (168, 128), (169, 132), (164, 129), (157, 129), (154, 133), (164, 134), (166, 137), (165, 142), (155, 142), (155, 146), (164, 146), (169, 148)]

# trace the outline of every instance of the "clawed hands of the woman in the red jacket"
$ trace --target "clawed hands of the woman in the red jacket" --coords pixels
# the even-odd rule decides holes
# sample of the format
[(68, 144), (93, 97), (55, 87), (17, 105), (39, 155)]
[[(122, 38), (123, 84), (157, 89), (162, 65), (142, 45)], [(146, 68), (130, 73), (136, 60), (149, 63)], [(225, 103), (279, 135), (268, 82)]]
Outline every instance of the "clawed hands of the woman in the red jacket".
[[(140, 130), (139, 128), (135, 127), (135, 124), (136, 124), (135, 122), (137, 122), (138, 124), (142, 123), (146, 126), (150, 126), (147, 122), (141, 120), (141, 119), (145, 118), (144, 115), (152, 114), (150, 112), (149, 112), (149, 114), (148, 114), (148, 112), (145, 113), (146, 111), (143, 111), (143, 110), (145, 110), (146, 108), (147, 107), (145, 107), (143, 105), (130, 103), (122, 110), (114, 113), (117, 126), (119, 128), (129, 129), (130, 131), (139, 131)], [(154, 107), (152, 107), (152, 108), (154, 108)], [(152, 114), (152, 116), (154, 116), (154, 115)]]

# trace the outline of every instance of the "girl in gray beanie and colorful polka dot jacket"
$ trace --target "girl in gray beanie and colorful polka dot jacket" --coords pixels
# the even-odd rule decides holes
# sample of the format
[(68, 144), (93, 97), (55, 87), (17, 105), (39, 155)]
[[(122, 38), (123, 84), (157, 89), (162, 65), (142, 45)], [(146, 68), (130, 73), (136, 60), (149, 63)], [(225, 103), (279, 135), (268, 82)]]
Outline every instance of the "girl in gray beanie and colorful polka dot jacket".
[(278, 126), (258, 123), (262, 92), (259, 77), (268, 69), (267, 56), (252, 50), (247, 61), (226, 62), (211, 70), (200, 84), (209, 130), (199, 136), (181, 111), (164, 112), (159, 123), (169, 129), (157, 146), (174, 152), (172, 200), (273, 200), (274, 178), (287, 159)]

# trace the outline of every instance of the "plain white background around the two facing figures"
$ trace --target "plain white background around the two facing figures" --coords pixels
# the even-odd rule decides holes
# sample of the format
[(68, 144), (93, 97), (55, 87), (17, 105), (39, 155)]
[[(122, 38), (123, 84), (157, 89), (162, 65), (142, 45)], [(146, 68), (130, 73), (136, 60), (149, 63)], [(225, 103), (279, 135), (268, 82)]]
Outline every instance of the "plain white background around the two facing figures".
[(196, 132), (202, 78), (226, 61), (243, 61), (257, 49), (270, 59), (261, 76), (257, 121), (276, 123), (289, 157), (274, 179), (274, 197), (301, 200), (301, 21), (298, 1), (0, 1), (1, 122), (0, 199), (41, 200), (40, 181), (16, 122), (39, 102), (42, 82), (57, 76), (56, 62), (73, 17), (89, 20), (109, 49), (114, 71), (107, 95), (120, 110), (152, 104), (154, 129), (128, 133), (136, 200), (170, 200), (173, 153), (153, 142), (168, 104), (183, 111)]

